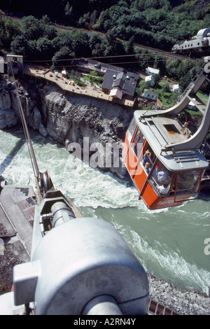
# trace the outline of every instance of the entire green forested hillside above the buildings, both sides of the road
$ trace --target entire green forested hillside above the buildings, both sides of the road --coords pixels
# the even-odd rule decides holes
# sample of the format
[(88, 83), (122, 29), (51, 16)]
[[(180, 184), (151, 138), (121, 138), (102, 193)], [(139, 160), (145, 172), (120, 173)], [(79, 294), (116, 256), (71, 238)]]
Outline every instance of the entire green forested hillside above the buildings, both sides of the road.
[[(129, 65), (136, 71), (148, 65), (158, 68), (161, 76), (179, 81), (182, 89), (202, 62), (188, 57), (168, 60), (142, 50), (137, 43), (171, 52), (174, 43), (210, 27), (209, 0), (1, 0), (0, 9), (3, 54), (48, 61), (52, 67), (68, 66), (71, 62), (66, 59), (83, 56), (109, 57), (116, 64), (116, 55), (137, 54), (119, 62), (133, 61)], [(22, 20), (14, 20), (15, 16)], [(55, 22), (71, 29), (57, 30)]]

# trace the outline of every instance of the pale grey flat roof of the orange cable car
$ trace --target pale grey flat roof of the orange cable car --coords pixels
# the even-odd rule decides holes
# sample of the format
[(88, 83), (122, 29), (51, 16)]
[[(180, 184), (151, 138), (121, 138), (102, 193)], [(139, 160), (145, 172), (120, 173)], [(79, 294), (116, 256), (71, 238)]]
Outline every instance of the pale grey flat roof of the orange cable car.
[(186, 141), (188, 137), (175, 118), (153, 116), (144, 118), (145, 111), (135, 111), (134, 116), (153, 152), (165, 167), (172, 172), (202, 169), (207, 167), (207, 160), (199, 149), (166, 150), (165, 146)]

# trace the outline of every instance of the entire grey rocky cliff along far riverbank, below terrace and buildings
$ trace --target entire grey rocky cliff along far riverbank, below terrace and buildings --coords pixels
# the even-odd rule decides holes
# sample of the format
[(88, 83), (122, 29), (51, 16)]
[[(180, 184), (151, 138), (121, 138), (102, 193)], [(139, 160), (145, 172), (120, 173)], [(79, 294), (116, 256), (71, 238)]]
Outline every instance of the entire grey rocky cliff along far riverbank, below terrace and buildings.
[[(13, 127), (21, 123), (15, 86), (6, 81), (1, 83), (0, 90), (0, 129)], [(49, 135), (66, 146), (67, 151), (73, 151), (76, 143), (83, 153), (84, 138), (88, 138), (89, 155), (93, 144), (95, 150), (96, 146), (99, 148), (98, 167), (122, 177), (125, 169), (121, 166), (104, 164), (107, 156), (113, 158), (113, 154), (105, 154), (105, 146), (108, 143), (119, 146), (118, 158), (121, 159), (120, 145), (132, 119), (132, 110), (92, 97), (64, 94), (56, 86), (43, 86), (33, 80), (22, 83), (18, 92), (29, 127), (43, 136)], [(85, 146), (87, 148), (87, 143)]]

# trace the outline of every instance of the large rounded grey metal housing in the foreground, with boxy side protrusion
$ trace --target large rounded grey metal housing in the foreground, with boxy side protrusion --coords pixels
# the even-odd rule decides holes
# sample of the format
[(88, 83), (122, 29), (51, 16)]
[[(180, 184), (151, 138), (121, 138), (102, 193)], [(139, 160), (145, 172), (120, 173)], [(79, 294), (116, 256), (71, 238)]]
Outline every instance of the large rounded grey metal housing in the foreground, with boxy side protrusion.
[(15, 267), (13, 281), (15, 305), (34, 302), (36, 315), (148, 310), (144, 268), (118, 230), (99, 218), (56, 225), (37, 244), (31, 262)]

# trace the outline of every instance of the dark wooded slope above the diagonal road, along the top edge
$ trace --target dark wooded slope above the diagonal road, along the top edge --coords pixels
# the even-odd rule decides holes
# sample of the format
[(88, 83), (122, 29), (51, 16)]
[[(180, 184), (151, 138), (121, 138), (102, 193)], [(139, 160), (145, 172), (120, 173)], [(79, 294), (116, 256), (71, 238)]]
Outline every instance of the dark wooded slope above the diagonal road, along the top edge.
[(209, 1), (204, 0), (1, 0), (1, 10), (52, 22), (108, 32), (123, 40), (170, 50), (210, 27)]

